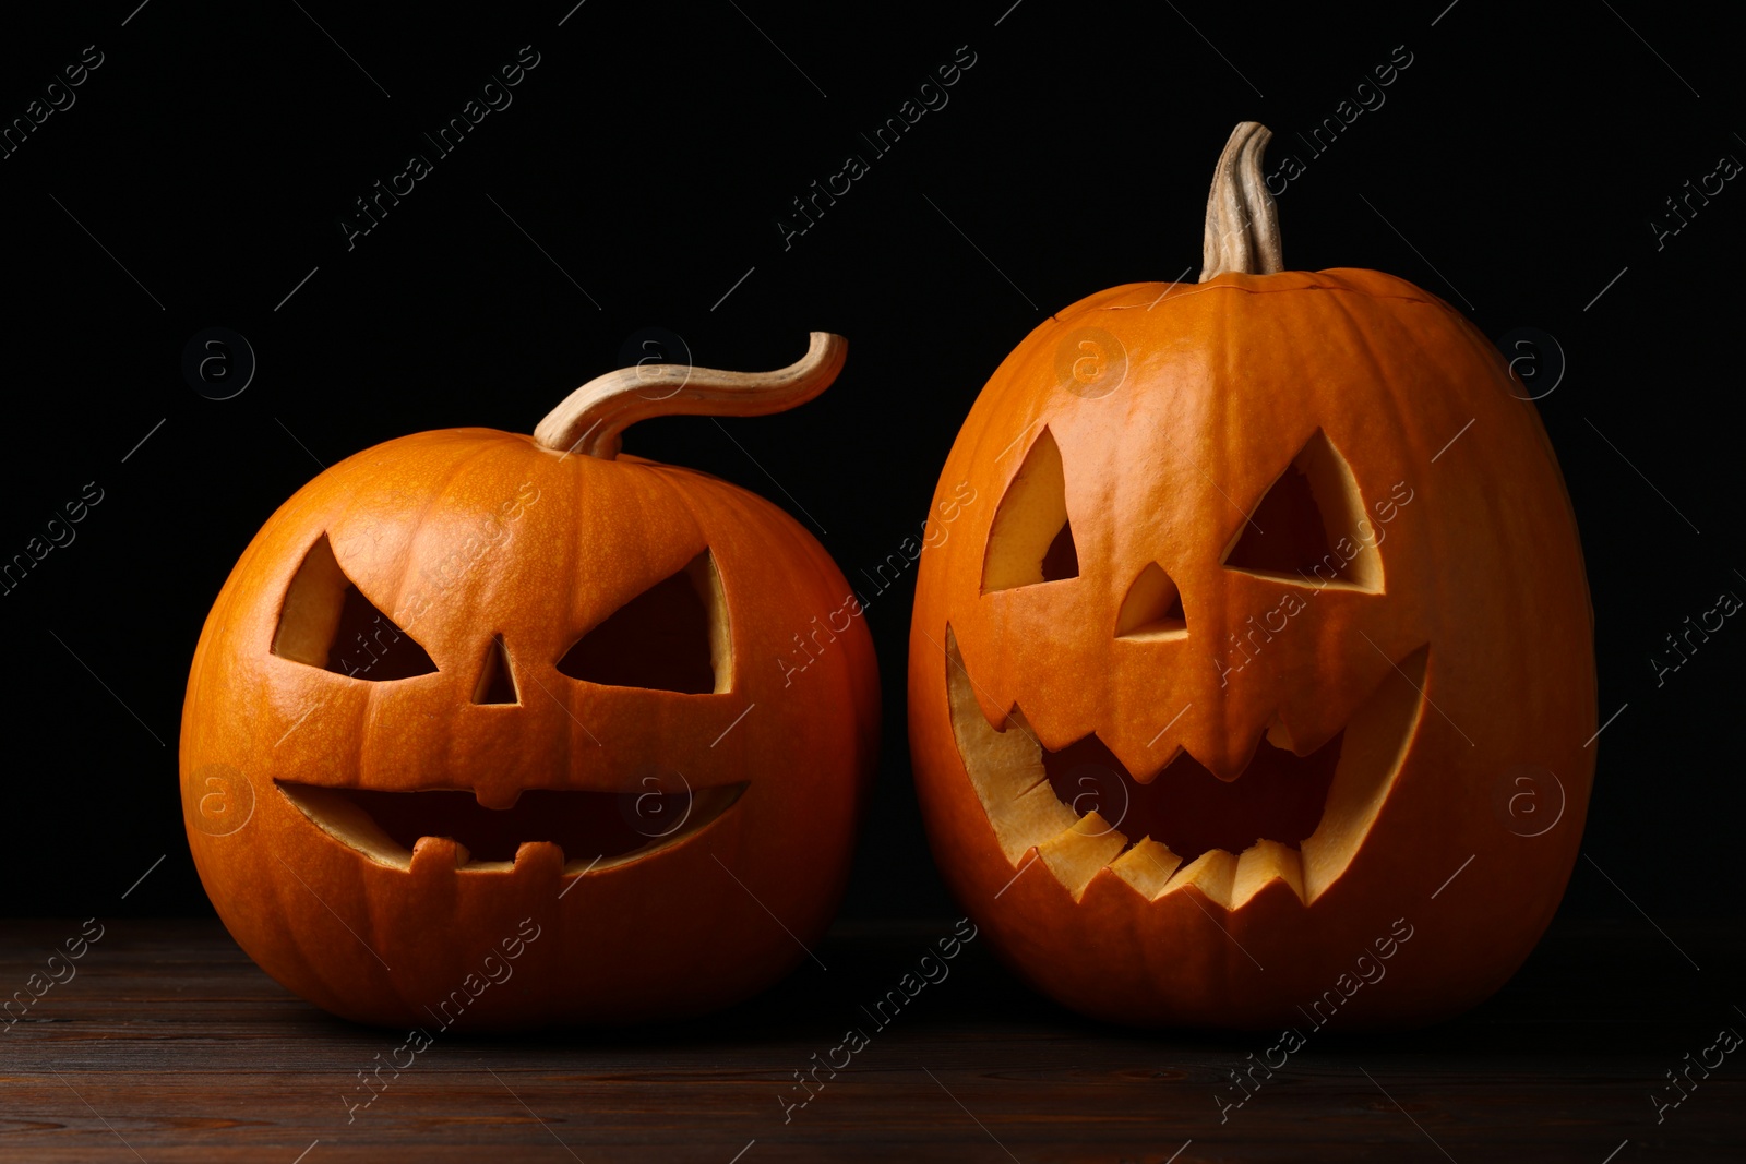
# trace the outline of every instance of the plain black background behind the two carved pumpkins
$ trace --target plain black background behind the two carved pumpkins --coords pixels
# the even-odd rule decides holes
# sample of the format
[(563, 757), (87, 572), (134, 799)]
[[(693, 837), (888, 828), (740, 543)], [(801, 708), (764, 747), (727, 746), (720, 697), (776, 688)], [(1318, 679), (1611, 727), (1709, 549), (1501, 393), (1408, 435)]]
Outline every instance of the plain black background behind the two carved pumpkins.
[[(1269, 157), (1308, 161), (1280, 197), (1290, 267), (1376, 267), (1495, 340), (1556, 337), (1568, 365), (1540, 410), (1584, 531), (1601, 719), (1626, 707), (1596, 742), (1592, 864), (1566, 909), (1737, 909), (1729, 674), (1746, 630), (1730, 621), (1662, 686), (1650, 665), (1685, 616), (1746, 593), (1746, 192), (1729, 183), (1660, 250), (1650, 227), (1718, 157), (1746, 159), (1737, 23), (1624, 0), (571, 2), (9, 17), (0, 117), (86, 45), (103, 65), (0, 161), (0, 557), (86, 482), (103, 501), (0, 597), (7, 913), (208, 911), (176, 796), (187, 667), (237, 553), (316, 461), (443, 426), (531, 431), (639, 328), (747, 370), (833, 330), (850, 339), (836, 386), (725, 422), (740, 447), (670, 419), (627, 448), (770, 497), (854, 578), (917, 531), (976, 391), (1030, 328), (1100, 288), (1198, 272), (1212, 162), (1245, 119), (1276, 131)], [(522, 45), (540, 65), (513, 105), (347, 250), (353, 199), (433, 155), (421, 133)], [(868, 155), (859, 134), (960, 45), (976, 63), (950, 103), (784, 250), (789, 201)], [(1322, 157), (1294, 141), (1397, 45), (1413, 63), (1381, 108)], [(232, 400), (183, 379), (208, 326), (258, 359)], [(911, 593), (913, 574), (868, 613), (885, 749), (852, 916), (952, 909), (910, 785)]]

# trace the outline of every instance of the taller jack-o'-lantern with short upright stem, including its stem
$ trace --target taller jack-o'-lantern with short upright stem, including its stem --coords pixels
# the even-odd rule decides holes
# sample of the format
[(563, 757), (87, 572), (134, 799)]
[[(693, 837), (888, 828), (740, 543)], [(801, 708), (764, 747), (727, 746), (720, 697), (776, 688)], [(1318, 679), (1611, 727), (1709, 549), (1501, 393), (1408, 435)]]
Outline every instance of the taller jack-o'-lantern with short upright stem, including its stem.
[(1074, 304), (971, 408), (938, 497), (997, 503), (922, 553), (915, 777), (960, 902), (1067, 1005), (1425, 1023), (1570, 878), (1587, 579), (1498, 351), (1402, 279), (1283, 270), (1266, 141), (1226, 147), (1198, 284)]

